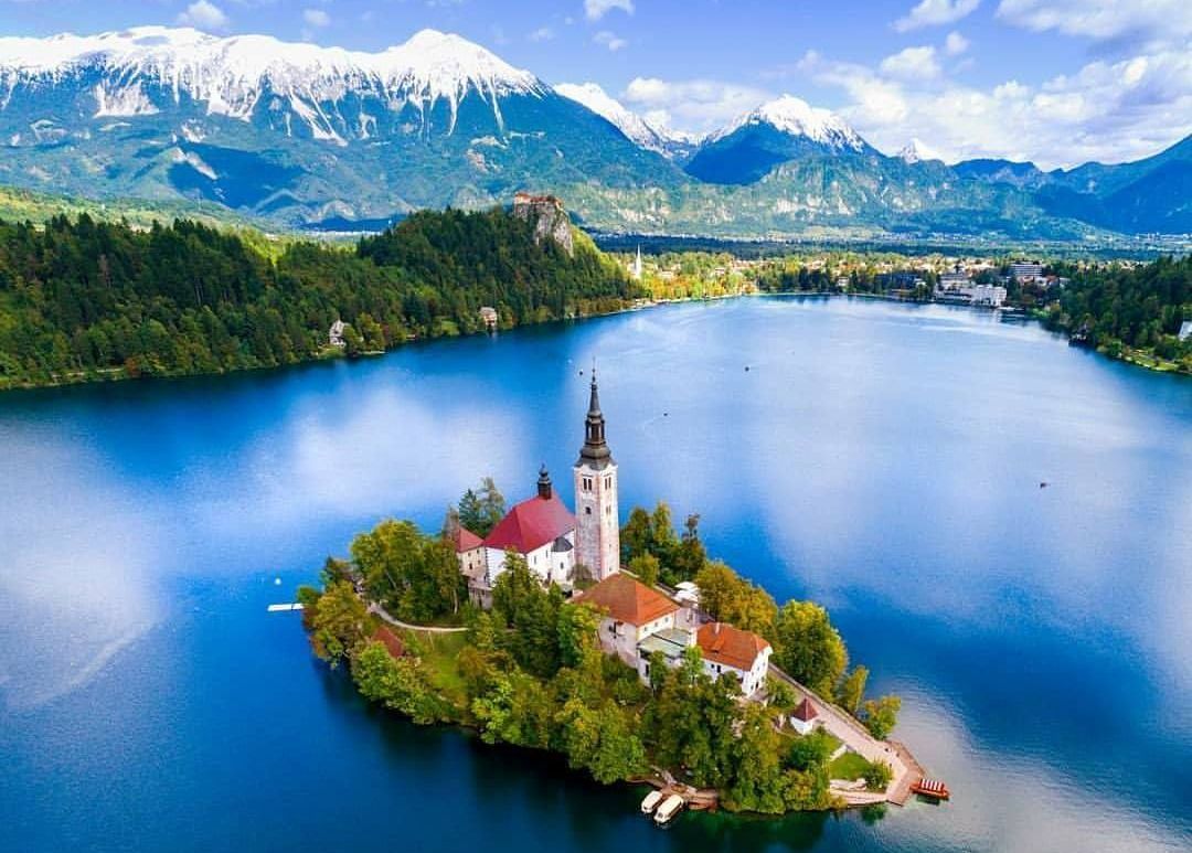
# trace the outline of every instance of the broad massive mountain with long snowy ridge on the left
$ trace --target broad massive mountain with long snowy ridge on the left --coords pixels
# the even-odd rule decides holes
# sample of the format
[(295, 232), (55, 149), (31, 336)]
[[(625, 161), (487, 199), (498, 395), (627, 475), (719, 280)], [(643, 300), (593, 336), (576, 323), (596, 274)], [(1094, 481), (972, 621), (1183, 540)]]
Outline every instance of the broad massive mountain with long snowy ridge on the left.
[(290, 224), (682, 173), (533, 74), (424, 30), (377, 54), (137, 27), (0, 38), (0, 181)]

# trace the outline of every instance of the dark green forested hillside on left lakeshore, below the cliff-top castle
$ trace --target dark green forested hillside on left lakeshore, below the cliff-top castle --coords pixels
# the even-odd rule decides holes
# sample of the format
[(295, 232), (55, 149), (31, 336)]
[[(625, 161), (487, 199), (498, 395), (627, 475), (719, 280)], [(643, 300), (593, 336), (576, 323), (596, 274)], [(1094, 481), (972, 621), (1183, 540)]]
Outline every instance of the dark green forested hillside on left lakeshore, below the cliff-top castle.
[(86, 213), (0, 222), (0, 387), (221, 373), (622, 307), (623, 270), (571, 256), (502, 210), (417, 213), (353, 249), (188, 220), (135, 229)]

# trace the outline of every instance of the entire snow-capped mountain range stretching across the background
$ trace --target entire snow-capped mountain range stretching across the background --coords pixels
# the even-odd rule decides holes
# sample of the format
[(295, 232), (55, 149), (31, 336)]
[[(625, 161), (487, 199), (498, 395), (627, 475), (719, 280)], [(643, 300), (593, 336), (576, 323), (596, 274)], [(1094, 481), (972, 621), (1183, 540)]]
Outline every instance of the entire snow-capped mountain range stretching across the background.
[(1192, 137), (1118, 166), (948, 166), (919, 141), (887, 156), (784, 95), (697, 139), (433, 30), (375, 54), (185, 27), (0, 38), (0, 183), (287, 228), (371, 230), (533, 189), (621, 232), (1192, 232)]

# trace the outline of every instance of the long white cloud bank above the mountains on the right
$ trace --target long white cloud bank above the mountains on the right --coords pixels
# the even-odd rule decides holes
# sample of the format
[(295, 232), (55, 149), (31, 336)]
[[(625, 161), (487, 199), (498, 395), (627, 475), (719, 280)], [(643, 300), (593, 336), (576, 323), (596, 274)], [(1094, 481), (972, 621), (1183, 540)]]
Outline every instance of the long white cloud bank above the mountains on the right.
[[(884, 63), (883, 63), (884, 64)], [(930, 139), (949, 162), (1031, 160), (1043, 168), (1149, 156), (1192, 133), (1192, 54), (1171, 49), (1097, 61), (1072, 75), (988, 88), (894, 77), (809, 52), (799, 68), (842, 89), (838, 112), (874, 145)]]

